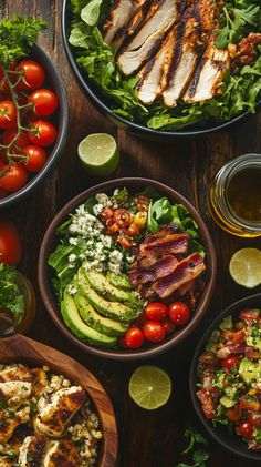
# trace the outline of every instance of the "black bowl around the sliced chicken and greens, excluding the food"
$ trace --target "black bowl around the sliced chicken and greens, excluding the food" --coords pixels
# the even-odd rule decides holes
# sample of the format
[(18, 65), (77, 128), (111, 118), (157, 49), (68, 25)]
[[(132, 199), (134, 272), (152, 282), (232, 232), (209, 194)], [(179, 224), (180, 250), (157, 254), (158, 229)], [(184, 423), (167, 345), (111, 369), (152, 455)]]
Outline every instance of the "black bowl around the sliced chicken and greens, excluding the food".
[[(62, 34), (63, 34), (63, 42), (67, 53), (67, 58), (70, 64), (77, 77), (80, 84), (82, 85), (83, 90), (92, 101), (92, 103), (105, 115), (107, 116), (113, 123), (117, 126), (129, 131), (130, 133), (146, 138), (149, 140), (171, 140), (174, 138), (196, 138), (196, 136), (203, 136), (210, 133), (216, 133), (217, 131), (227, 130), (228, 128), (232, 126), (233, 124), (241, 122), (246, 119), (252, 116), (251, 112), (243, 112), (240, 115), (233, 118), (229, 122), (221, 122), (221, 123), (213, 123), (212, 125), (207, 125), (202, 128), (191, 128), (189, 130), (180, 130), (180, 131), (155, 131), (150, 130), (147, 126), (143, 126), (142, 124), (137, 124), (130, 122), (123, 116), (116, 115), (112, 109), (109, 109), (106, 98), (102, 95), (101, 90), (96, 87), (86, 75), (86, 73), (77, 65), (75, 61), (75, 53), (74, 48), (71, 47), (69, 43), (70, 37), (70, 24), (72, 19), (71, 13), (71, 2), (70, 0), (64, 0), (63, 2), (63, 11), (62, 11)], [(258, 109), (261, 108), (261, 101), (259, 101), (257, 105)]]

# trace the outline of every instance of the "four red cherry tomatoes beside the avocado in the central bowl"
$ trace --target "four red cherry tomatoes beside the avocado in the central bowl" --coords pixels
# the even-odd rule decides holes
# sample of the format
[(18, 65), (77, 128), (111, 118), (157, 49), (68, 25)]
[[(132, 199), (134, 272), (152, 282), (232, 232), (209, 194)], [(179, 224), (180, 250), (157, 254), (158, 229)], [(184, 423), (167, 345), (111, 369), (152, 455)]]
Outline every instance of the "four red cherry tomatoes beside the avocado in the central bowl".
[(182, 302), (174, 302), (169, 306), (161, 302), (152, 302), (119, 339), (119, 344), (127, 348), (139, 348), (145, 341), (163, 342), (167, 335), (174, 333), (177, 325), (187, 323), (189, 317), (190, 309)]

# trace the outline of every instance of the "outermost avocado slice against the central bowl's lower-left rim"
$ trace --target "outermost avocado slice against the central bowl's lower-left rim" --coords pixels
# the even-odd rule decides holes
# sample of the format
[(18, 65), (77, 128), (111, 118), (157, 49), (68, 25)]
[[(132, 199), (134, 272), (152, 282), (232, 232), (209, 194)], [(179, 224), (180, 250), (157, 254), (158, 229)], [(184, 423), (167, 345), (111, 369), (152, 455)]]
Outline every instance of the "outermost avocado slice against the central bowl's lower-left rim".
[(83, 341), (100, 347), (115, 347), (117, 344), (116, 337), (106, 336), (105, 334), (94, 331), (87, 326), (81, 318), (74, 298), (65, 290), (61, 303), (61, 313), (67, 327)]

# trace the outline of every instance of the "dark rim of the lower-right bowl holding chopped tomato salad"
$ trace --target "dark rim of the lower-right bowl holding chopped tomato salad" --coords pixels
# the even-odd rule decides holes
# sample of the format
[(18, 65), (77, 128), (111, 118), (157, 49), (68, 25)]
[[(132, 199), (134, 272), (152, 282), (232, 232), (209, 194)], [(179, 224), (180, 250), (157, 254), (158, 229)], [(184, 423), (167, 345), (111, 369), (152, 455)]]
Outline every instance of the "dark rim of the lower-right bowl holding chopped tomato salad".
[[(200, 338), (195, 352), (194, 352), (194, 357), (192, 357), (192, 362), (190, 364), (190, 369), (189, 369), (189, 392), (190, 392), (190, 398), (192, 400), (192, 405), (194, 408), (200, 419), (200, 422), (203, 424), (205, 428), (207, 429), (207, 432), (209, 433), (209, 435), (219, 444), (222, 445), (222, 447), (225, 447), (226, 449), (232, 451), (233, 454), (240, 456), (240, 457), (244, 457), (249, 460), (261, 460), (261, 453), (260, 454), (255, 454), (254, 451), (250, 451), (247, 449), (247, 446), (242, 443), (242, 449), (237, 448), (231, 446), (229, 439), (230, 437), (234, 437), (237, 435), (230, 435), (228, 433), (228, 441), (222, 440), (219, 435), (218, 435), (218, 428), (213, 427), (210, 420), (207, 420), (207, 418), (205, 417), (202, 409), (201, 409), (201, 405), (196, 396), (196, 383), (198, 382), (197, 378), (197, 364), (198, 364), (198, 358), (199, 355), (201, 354), (201, 352), (203, 351), (203, 347), (207, 343), (207, 341), (209, 339), (211, 333), (218, 327), (218, 325), (220, 324), (220, 322), (225, 318), (225, 316), (229, 315), (229, 314), (239, 314), (240, 311), (242, 311), (246, 306), (255, 306), (255, 305), (249, 305), (249, 304), (254, 304), (254, 303), (260, 303), (261, 304), (261, 293), (254, 294), (254, 295), (249, 295), (244, 298), (240, 298), (237, 302), (233, 302), (232, 304), (230, 304), (229, 306), (227, 306), (216, 318), (215, 321), (210, 324), (210, 326), (206, 329), (206, 332), (203, 333), (202, 337)], [(220, 429), (222, 427), (219, 427)], [(239, 437), (237, 436), (236, 439), (239, 439)], [(243, 449), (246, 448), (246, 450)]]

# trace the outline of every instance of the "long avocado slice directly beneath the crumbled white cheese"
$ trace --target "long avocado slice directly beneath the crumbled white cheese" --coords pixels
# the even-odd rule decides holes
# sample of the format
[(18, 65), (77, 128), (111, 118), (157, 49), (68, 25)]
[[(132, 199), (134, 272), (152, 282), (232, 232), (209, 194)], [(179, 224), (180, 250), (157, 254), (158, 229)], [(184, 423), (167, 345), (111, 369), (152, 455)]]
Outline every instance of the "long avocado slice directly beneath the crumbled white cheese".
[(135, 302), (137, 301), (136, 295), (133, 292), (126, 292), (122, 288), (115, 287), (111, 282), (100, 272), (95, 270), (82, 270), (90, 282), (92, 288), (94, 288), (97, 294), (103, 295), (107, 300), (116, 302)]

